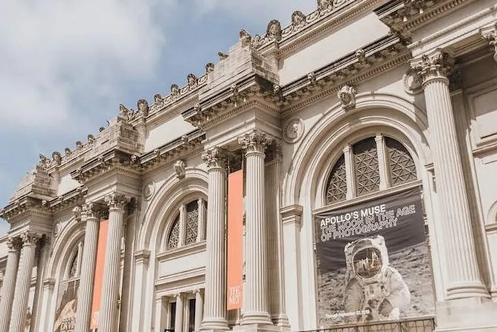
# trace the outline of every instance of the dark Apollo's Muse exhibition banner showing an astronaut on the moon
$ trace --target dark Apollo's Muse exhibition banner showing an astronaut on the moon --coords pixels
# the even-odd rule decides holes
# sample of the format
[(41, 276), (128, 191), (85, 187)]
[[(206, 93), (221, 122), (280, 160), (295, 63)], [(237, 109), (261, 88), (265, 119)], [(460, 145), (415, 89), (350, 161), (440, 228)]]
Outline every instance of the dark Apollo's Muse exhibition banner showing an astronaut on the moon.
[(315, 216), (318, 324), (434, 314), (418, 188)]

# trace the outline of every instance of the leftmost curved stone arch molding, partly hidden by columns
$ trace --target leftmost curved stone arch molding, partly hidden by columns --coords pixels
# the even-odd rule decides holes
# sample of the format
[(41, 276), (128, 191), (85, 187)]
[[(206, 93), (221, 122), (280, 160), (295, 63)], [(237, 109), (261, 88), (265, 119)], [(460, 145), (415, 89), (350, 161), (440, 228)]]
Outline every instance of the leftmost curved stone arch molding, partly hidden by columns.
[(78, 243), (83, 239), (83, 223), (75, 218), (70, 220), (61, 234), (55, 240), (51, 251), (47, 271), (56, 280), (64, 279), (64, 273), (71, 258), (77, 250)]

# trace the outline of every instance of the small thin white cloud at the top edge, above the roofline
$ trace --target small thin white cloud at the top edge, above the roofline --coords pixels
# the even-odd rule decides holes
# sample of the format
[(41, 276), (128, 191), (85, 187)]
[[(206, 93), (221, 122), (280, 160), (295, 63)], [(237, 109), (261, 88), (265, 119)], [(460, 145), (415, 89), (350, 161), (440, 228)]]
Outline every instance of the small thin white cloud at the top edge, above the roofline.
[(194, 0), (200, 13), (222, 10), (238, 17), (264, 23), (277, 19), (286, 25), (291, 14), (301, 10), (307, 14), (317, 8), (317, 0)]

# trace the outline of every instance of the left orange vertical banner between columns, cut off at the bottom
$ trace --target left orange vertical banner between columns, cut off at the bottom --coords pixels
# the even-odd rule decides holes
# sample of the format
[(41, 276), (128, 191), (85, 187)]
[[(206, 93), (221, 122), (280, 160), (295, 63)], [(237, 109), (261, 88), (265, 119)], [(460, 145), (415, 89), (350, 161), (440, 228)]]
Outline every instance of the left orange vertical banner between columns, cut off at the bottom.
[(91, 303), (90, 332), (97, 332), (98, 312), (102, 295), (103, 269), (105, 267), (105, 248), (107, 242), (108, 220), (100, 221), (98, 230), (98, 246), (96, 251), (95, 278), (93, 280), (93, 300)]

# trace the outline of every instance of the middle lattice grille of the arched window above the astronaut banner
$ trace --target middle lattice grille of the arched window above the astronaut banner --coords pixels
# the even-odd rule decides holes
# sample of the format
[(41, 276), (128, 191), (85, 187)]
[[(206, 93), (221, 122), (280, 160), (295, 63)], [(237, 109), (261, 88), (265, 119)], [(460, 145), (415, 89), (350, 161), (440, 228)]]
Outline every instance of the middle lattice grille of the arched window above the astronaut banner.
[(355, 185), (357, 195), (364, 195), (380, 189), (380, 167), (378, 149), (374, 138), (366, 138), (353, 145), (355, 162)]

